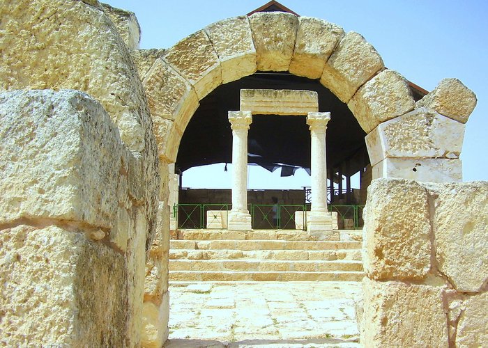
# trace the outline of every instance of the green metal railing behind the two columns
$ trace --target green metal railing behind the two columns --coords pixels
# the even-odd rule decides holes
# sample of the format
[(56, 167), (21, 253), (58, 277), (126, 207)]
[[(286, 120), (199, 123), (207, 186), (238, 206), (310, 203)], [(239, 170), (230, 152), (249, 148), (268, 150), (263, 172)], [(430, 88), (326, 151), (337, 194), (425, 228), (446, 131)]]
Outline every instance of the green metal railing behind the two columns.
[[(297, 226), (307, 229), (307, 212), (310, 204), (277, 204), (276, 212), (272, 204), (249, 204), (252, 228), (254, 230), (295, 230)], [(230, 204), (178, 204), (173, 207), (173, 216), (178, 220), (178, 228), (227, 228), (227, 212)], [(328, 205), (329, 212), (337, 212), (340, 230), (363, 227), (364, 205)], [(303, 212), (303, 214), (296, 214)], [(298, 218), (297, 218), (298, 216)], [(296, 221), (300, 219), (300, 221)]]

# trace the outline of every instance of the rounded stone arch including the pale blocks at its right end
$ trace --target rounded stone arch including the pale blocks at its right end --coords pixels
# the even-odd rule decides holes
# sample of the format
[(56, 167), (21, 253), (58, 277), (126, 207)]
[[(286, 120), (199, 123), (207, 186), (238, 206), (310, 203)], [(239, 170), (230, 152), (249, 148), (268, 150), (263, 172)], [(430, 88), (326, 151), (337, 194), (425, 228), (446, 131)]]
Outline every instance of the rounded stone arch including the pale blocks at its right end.
[[(208, 93), (221, 84), (257, 71), (288, 71), (300, 77), (319, 79), (348, 105), (368, 134), (369, 157), (376, 166), (374, 177), (396, 173), (397, 177), (422, 181), (427, 167), (435, 166), (437, 174), (448, 173), (441, 175), (441, 181), (461, 180), (459, 153), (463, 123), (475, 106), (471, 90), (451, 79), (449, 88), (429, 94), (431, 100), (436, 99), (436, 94), (443, 95), (443, 102), (438, 100), (436, 104), (425, 97), (422, 102), (415, 103), (409, 81), (385, 68), (379, 53), (362, 35), (353, 31), (344, 33), (340, 26), (323, 19), (276, 12), (232, 17), (206, 26), (166, 51), (136, 53), (135, 60), (153, 116), (159, 156), (166, 163), (176, 161), (185, 127), (198, 108), (199, 100)], [(465, 101), (460, 103), (463, 106), (457, 107), (463, 98)], [(446, 100), (455, 109), (450, 116), (445, 115), (447, 118), (440, 115), (437, 107)], [(400, 129), (395, 139), (388, 139), (385, 129), (377, 127), (407, 113), (410, 113), (406, 116), (408, 120), (397, 122), (395, 130), (390, 132), (391, 138), (391, 133), (398, 133)], [(461, 139), (461, 143), (453, 142), (456, 145), (446, 150), (446, 142), (434, 139), (435, 127), (428, 128), (426, 134), (426, 129), (420, 127), (422, 122), (455, 129), (455, 135), (449, 140)], [(418, 132), (424, 134), (418, 144), (420, 152), (409, 149), (406, 144), (396, 152), (385, 145), (385, 142), (389, 145), (409, 143), (411, 136)], [(387, 158), (402, 158), (401, 164), (406, 167), (384, 161)], [(411, 160), (405, 161), (405, 158)], [(425, 170), (418, 169), (418, 158), (427, 158)], [(430, 163), (431, 159), (436, 163)]]

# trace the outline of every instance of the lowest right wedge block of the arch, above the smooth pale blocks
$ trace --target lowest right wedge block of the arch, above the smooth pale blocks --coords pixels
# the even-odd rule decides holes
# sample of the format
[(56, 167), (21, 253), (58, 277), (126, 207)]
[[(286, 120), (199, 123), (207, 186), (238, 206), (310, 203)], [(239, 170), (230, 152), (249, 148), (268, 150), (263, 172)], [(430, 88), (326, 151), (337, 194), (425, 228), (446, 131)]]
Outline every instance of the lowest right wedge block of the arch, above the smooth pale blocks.
[(366, 133), (381, 122), (390, 120), (415, 107), (410, 86), (394, 70), (383, 70), (367, 81), (347, 104)]

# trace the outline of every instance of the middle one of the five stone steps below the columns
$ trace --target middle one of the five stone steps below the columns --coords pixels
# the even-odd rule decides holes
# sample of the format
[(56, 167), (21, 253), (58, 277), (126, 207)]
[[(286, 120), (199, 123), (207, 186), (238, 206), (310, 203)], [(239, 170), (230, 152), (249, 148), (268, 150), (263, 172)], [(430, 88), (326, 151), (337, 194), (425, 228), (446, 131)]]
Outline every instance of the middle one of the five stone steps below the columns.
[(195, 250), (170, 249), (170, 260), (361, 260), (360, 249), (338, 250)]

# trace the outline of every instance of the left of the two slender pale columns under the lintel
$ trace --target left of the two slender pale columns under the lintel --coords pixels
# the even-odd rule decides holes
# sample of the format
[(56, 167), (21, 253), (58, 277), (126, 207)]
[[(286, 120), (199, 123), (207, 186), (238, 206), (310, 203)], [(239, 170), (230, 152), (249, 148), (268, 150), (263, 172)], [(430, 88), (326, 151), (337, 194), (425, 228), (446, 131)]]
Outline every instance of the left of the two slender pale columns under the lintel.
[(247, 210), (247, 130), (252, 123), (251, 111), (229, 111), (232, 129), (232, 209), (229, 230), (251, 230)]

